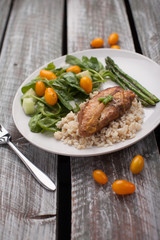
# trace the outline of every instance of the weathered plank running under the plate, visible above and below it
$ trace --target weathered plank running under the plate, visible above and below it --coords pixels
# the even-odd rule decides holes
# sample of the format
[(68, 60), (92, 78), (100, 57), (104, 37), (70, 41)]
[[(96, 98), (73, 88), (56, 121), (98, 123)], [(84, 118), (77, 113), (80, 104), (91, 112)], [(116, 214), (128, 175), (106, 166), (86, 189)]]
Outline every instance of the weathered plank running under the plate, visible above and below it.
[[(116, 16), (116, 17), (115, 17)], [(123, 1), (68, 0), (68, 51), (90, 48), (94, 37), (120, 35), (121, 48), (134, 51)], [(138, 176), (129, 170), (132, 158), (141, 154), (145, 168)], [(100, 186), (92, 172), (101, 169), (109, 182)], [(160, 175), (154, 134), (120, 152), (90, 158), (71, 158), (72, 239), (158, 239)], [(133, 195), (113, 194), (117, 179), (135, 183)]]

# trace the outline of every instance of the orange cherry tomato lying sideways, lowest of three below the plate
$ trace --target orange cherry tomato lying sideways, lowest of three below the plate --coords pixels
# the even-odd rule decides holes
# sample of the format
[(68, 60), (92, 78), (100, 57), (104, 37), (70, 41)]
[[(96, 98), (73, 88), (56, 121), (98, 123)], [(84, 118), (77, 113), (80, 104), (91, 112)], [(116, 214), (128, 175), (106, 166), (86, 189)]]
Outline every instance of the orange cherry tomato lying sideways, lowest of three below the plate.
[(116, 180), (112, 184), (112, 189), (118, 195), (127, 195), (127, 194), (134, 193), (135, 185), (126, 180)]

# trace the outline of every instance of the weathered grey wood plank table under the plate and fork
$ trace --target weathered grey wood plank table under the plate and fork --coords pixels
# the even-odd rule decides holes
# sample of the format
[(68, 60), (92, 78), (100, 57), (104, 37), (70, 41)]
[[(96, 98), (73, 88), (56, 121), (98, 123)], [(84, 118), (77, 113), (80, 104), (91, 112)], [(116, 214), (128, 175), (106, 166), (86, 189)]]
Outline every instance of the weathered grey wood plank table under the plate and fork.
[[(57, 186), (55, 192), (45, 190), (15, 153), (1, 146), (0, 239), (160, 239), (158, 128), (119, 152), (77, 158), (33, 146), (12, 119), (15, 93), (29, 74), (54, 58), (90, 48), (95, 37), (109, 47), (109, 34), (117, 32), (121, 49), (160, 64), (159, 10), (159, 0), (0, 1), (0, 123)], [(134, 177), (128, 166), (137, 154), (144, 156), (145, 168)], [(94, 169), (107, 172), (110, 183), (118, 178), (134, 181), (136, 193), (116, 196), (111, 184), (93, 181)]]

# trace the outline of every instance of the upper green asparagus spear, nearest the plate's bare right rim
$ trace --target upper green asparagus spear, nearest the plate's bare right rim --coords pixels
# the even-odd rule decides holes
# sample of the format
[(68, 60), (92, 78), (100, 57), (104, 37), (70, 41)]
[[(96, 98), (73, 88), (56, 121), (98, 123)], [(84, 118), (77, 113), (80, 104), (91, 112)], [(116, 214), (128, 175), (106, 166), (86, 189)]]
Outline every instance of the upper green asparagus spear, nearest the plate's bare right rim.
[(146, 88), (144, 88), (139, 82), (137, 82), (134, 78), (126, 74), (122, 69), (119, 68), (117, 64), (114, 63), (113, 59), (110, 57), (107, 57), (108, 62), (122, 75), (124, 76), (129, 82), (134, 84), (137, 88), (139, 88), (145, 95), (147, 95), (149, 98), (151, 98), (155, 103), (159, 102), (159, 99), (149, 92)]

